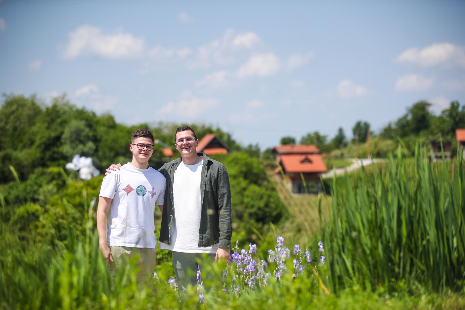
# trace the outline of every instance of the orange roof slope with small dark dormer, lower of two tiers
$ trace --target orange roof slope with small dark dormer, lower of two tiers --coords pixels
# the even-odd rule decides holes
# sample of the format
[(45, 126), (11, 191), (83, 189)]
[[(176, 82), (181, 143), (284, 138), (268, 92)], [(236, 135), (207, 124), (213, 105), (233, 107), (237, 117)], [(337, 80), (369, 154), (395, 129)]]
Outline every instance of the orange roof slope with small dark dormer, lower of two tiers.
[(281, 165), (285, 172), (325, 172), (328, 170), (319, 154), (281, 155)]

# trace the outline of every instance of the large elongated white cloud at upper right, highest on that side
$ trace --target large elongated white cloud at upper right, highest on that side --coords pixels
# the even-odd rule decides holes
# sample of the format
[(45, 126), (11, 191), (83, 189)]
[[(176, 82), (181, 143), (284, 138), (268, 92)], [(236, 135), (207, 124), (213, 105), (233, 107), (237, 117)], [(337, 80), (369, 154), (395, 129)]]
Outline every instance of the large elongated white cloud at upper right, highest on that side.
[(465, 68), (465, 46), (437, 43), (423, 49), (412, 47), (401, 53), (396, 61), (420, 66), (460, 66)]

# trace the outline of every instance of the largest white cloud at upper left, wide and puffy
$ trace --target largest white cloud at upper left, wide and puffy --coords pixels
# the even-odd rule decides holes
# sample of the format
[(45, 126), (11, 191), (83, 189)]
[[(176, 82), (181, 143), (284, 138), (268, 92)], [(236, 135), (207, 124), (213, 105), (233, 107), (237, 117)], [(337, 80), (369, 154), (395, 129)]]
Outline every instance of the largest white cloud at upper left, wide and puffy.
[(140, 58), (145, 52), (144, 39), (121, 30), (102, 34), (100, 28), (83, 25), (68, 33), (69, 42), (63, 48), (64, 59), (95, 55), (106, 59)]

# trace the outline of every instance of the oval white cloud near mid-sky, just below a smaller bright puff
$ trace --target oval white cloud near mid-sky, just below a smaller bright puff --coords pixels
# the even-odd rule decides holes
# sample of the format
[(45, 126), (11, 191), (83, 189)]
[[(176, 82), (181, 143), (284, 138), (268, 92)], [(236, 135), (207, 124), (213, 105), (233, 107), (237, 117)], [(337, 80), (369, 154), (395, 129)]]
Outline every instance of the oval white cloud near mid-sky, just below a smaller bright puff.
[(237, 71), (239, 78), (249, 76), (268, 76), (275, 74), (281, 67), (281, 61), (275, 54), (260, 54), (252, 56), (247, 62), (240, 66)]

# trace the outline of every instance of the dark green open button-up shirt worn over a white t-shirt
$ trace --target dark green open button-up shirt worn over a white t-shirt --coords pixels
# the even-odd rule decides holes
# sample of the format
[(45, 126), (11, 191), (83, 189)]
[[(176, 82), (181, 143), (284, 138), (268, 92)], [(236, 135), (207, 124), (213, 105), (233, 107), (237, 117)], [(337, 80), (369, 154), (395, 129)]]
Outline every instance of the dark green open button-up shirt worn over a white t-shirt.
[[(203, 153), (202, 176), (200, 181), (199, 247), (218, 244), (219, 248), (231, 247), (233, 234), (231, 220), (231, 188), (226, 167), (219, 161), (208, 158)], [(163, 165), (158, 171), (166, 178), (165, 201), (161, 216), (160, 242), (170, 244), (171, 224), (173, 223), (173, 180), (174, 171), (181, 158)]]

